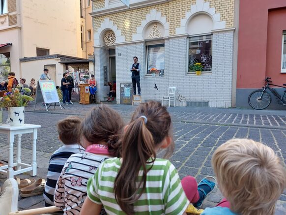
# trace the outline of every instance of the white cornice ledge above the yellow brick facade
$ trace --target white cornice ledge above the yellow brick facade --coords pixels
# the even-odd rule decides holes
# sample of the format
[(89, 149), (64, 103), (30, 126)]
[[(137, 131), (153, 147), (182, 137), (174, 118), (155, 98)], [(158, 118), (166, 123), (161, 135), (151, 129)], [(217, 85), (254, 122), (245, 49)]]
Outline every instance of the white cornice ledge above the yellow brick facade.
[(113, 13), (133, 10), (137, 8), (152, 6), (156, 4), (163, 4), (172, 0), (133, 0), (134, 2), (130, 2), (130, 7), (128, 8), (126, 5), (122, 5), (122, 3), (116, 3), (113, 7), (104, 7), (97, 10), (92, 11), (89, 13), (92, 17), (98, 17), (103, 15), (109, 15)]

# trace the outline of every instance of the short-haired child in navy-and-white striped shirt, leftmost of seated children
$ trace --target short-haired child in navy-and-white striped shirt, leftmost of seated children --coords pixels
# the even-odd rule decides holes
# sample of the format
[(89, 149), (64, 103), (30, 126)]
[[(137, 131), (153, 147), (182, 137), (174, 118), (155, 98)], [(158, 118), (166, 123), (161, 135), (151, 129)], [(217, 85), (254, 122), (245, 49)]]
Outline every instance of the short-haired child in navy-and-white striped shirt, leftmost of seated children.
[(54, 192), (60, 172), (70, 155), (81, 152), (79, 126), (82, 119), (67, 117), (57, 123), (58, 139), (63, 143), (49, 161), (47, 183), (44, 191), (45, 206), (54, 205)]

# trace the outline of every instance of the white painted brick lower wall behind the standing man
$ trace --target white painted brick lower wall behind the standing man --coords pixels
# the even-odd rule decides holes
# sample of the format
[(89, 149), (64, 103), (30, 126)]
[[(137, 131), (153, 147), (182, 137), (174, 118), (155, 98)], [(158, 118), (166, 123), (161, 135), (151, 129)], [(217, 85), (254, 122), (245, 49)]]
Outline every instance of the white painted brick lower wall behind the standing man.
[[(175, 37), (165, 40), (165, 75), (162, 77), (146, 76), (145, 68), (145, 45), (141, 43), (124, 44), (116, 46), (116, 83), (117, 103), (120, 103), (120, 83), (131, 81), (129, 71), (133, 63), (133, 57), (138, 57), (141, 63), (141, 94), (142, 99), (154, 99), (154, 83), (158, 87), (156, 100), (162, 100), (163, 95), (168, 94), (168, 87), (177, 88), (176, 95), (182, 94), (187, 101), (208, 101), (210, 107), (231, 107), (231, 83), (233, 61), (233, 32), (215, 32), (212, 41), (212, 72), (197, 76), (187, 74), (187, 37)], [(108, 51), (102, 48), (99, 54), (100, 67), (97, 66), (95, 54), (95, 74), (103, 80), (103, 65), (108, 64)], [(97, 53), (97, 52), (95, 52)], [(119, 56), (120, 55), (120, 56)], [(97, 74), (101, 68), (101, 74)], [(98, 80), (98, 78), (97, 78)], [(103, 81), (102, 81), (103, 82)], [(108, 91), (108, 87), (107, 91)], [(106, 96), (106, 92), (98, 96)], [(103, 88), (105, 90), (105, 87)], [(103, 94), (103, 95), (102, 95)]]

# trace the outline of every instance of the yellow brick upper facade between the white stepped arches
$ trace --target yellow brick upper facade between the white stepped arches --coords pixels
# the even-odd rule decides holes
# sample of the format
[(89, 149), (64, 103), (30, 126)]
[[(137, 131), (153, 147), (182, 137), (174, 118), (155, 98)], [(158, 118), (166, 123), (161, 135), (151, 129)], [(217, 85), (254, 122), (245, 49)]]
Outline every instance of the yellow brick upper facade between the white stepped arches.
[[(215, 12), (220, 13), (221, 21), (226, 21), (226, 28), (233, 27), (234, 0), (205, 0), (204, 2), (210, 2), (210, 7), (214, 7)], [(193, 4), (196, 4), (196, 0), (172, 0), (164, 4), (95, 17), (93, 29), (97, 32), (104, 19), (109, 18), (117, 26), (117, 29), (121, 30), (121, 35), (125, 36), (125, 41), (129, 42), (132, 41), (132, 35), (136, 33), (136, 28), (141, 26), (141, 21), (145, 20), (145, 15), (149, 14), (150, 10), (156, 9), (157, 12), (161, 12), (161, 15), (167, 18), (170, 35), (175, 35), (176, 28), (180, 27), (181, 19), (185, 18), (185, 13), (190, 11)], [(93, 3), (93, 9), (104, 6), (105, 0)]]

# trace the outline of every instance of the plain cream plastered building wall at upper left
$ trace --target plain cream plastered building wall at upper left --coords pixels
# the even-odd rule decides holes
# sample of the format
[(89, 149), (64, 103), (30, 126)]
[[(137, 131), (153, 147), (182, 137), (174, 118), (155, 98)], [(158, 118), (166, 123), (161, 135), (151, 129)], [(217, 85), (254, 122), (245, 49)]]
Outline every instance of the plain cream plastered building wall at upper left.
[(79, 0), (21, 2), (23, 57), (36, 56), (37, 47), (49, 49), (50, 54), (83, 56), (76, 45), (80, 43)]

